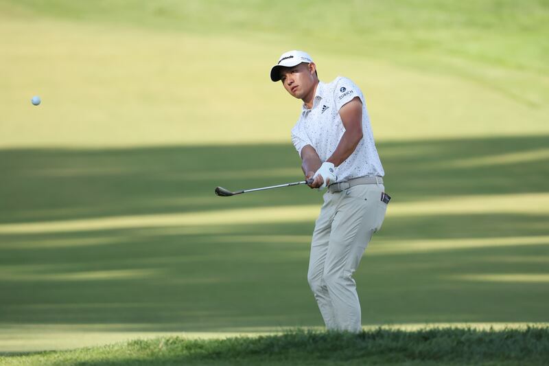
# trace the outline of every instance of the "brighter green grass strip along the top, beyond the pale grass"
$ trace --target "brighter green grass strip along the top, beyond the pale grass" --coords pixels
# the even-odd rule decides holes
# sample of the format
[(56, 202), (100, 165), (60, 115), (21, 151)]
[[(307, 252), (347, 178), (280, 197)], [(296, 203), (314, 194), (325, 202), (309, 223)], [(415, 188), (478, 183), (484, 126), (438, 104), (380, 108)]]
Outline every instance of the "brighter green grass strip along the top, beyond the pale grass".
[[(10, 6), (13, 1), (5, 1)], [(334, 52), (373, 55), (449, 52), (508, 67), (546, 71), (546, 1), (39, 1), (16, 2), (36, 14), (77, 21), (103, 21), (195, 34), (256, 34), (272, 40), (309, 35)], [(406, 36), (403, 36), (406, 34)], [(322, 41), (320, 41), (322, 40)], [(301, 41), (303, 42), (303, 41)], [(338, 45), (338, 47), (337, 47)], [(373, 45), (364, 47), (364, 45)], [(514, 45), (513, 52), (508, 46)], [(349, 47), (351, 46), (351, 47)], [(359, 46), (355, 48), (352, 46)], [(404, 48), (404, 49), (402, 49)], [(276, 57), (276, 56), (275, 56)]]

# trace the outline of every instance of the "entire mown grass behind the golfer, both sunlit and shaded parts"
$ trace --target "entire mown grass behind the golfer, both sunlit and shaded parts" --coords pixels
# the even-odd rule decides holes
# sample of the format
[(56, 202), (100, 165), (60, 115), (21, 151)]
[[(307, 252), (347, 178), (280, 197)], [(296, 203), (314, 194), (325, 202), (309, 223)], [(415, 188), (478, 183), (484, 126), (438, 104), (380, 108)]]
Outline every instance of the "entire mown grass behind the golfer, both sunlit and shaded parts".
[(360, 85), (393, 196), (366, 329), (548, 323), (545, 1), (130, 3), (0, 0), (0, 353), (322, 328), (321, 194), (213, 193), (303, 178), (294, 48)]

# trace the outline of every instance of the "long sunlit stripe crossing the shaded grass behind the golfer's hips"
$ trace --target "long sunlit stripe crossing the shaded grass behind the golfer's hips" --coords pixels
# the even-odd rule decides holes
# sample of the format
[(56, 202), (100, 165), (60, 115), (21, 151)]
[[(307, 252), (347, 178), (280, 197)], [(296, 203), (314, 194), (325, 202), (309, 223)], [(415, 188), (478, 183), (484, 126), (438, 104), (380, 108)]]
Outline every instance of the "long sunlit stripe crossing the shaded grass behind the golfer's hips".
[[(234, 199), (234, 198), (220, 198)], [(524, 205), (524, 202), (536, 205)], [(308, 222), (318, 216), (318, 205), (253, 207), (196, 211), (183, 214), (109, 216), (49, 222), (20, 222), (0, 225), (0, 233), (52, 233), (97, 231), (139, 227), (171, 227), (202, 225), (236, 225), (277, 222)], [(393, 203), (387, 217), (441, 214), (548, 214), (549, 194), (492, 194), (449, 196), (429, 201)]]

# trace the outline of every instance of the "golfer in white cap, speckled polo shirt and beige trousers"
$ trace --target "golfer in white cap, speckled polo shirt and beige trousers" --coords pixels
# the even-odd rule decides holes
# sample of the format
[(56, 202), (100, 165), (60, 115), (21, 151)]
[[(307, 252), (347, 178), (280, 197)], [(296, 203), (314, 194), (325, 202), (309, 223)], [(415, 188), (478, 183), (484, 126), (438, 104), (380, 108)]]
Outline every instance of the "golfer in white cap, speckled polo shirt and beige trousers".
[(390, 197), (366, 101), (348, 78), (320, 82), (311, 56), (290, 51), (270, 71), (303, 106), (292, 142), (309, 187), (326, 190), (316, 220), (307, 279), (328, 330), (360, 332), (353, 272), (383, 223)]

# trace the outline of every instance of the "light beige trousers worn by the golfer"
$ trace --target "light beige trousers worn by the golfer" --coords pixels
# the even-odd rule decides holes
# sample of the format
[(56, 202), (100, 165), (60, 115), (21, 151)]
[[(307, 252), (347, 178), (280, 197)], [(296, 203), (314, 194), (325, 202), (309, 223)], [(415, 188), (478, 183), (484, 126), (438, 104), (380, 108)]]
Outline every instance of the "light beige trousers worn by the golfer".
[(362, 330), (352, 276), (373, 233), (382, 227), (387, 209), (382, 192), (382, 184), (363, 184), (324, 194), (307, 279), (328, 330)]

